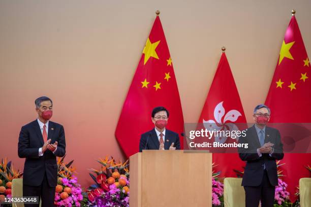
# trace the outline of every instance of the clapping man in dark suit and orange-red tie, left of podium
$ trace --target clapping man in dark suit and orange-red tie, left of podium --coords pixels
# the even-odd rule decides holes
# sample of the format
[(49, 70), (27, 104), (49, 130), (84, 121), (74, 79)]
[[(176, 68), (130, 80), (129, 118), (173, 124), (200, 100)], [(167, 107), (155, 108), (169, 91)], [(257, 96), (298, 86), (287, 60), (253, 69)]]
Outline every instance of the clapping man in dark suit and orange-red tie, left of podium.
[[(18, 139), (18, 156), (26, 158), (23, 172), (23, 196), (38, 196), (42, 206), (54, 206), (57, 185), (56, 156), (66, 153), (64, 127), (49, 121), (52, 100), (46, 96), (36, 99), (38, 118), (22, 126)], [(25, 204), (39, 206), (39, 204)]]

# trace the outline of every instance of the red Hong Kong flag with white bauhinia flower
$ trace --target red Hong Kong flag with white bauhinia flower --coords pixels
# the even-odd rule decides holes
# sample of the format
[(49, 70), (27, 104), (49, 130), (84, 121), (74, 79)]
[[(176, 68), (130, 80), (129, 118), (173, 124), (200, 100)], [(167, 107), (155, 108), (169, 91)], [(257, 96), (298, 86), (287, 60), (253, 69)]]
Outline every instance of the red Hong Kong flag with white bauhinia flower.
[[(205, 128), (215, 126), (216, 130), (244, 130), (247, 126), (240, 96), (224, 52), (198, 123), (203, 123)], [(214, 137), (214, 139), (220, 143), (232, 143), (230, 137), (227, 139)], [(236, 177), (233, 169), (242, 170), (242, 166), (245, 165), (238, 153), (213, 153), (212, 160), (216, 165), (214, 169), (222, 171), (221, 177)]]

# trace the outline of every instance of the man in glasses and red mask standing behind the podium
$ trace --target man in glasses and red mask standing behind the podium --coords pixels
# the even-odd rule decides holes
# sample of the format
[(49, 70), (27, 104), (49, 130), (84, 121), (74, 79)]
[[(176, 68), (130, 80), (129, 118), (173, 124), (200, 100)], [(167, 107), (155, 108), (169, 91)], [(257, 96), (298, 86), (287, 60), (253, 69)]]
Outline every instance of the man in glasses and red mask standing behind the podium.
[(142, 150), (180, 150), (179, 136), (166, 129), (169, 112), (164, 107), (155, 107), (151, 113), (154, 128), (143, 133), (139, 142), (139, 152)]

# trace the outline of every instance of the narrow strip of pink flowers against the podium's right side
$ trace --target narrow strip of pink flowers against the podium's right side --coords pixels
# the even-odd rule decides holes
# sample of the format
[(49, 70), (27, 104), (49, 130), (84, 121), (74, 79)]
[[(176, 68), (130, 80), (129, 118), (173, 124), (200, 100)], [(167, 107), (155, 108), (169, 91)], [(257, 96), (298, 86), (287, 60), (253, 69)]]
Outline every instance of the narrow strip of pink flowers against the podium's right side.
[[(212, 163), (212, 168), (216, 165)], [(221, 171), (212, 171), (212, 206), (224, 206), (224, 184), (220, 182)]]

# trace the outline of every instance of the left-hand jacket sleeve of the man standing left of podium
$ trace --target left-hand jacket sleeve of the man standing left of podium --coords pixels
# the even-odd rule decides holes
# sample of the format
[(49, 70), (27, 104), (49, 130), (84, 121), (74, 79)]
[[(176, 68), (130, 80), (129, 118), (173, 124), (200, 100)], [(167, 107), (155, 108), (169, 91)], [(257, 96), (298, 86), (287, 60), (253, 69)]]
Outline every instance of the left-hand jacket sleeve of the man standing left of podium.
[(39, 158), (39, 148), (30, 148), (29, 132), (22, 127), (18, 137), (18, 157), (20, 158)]

